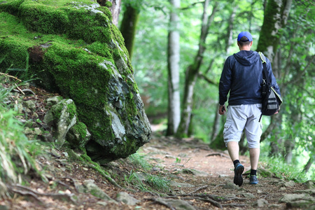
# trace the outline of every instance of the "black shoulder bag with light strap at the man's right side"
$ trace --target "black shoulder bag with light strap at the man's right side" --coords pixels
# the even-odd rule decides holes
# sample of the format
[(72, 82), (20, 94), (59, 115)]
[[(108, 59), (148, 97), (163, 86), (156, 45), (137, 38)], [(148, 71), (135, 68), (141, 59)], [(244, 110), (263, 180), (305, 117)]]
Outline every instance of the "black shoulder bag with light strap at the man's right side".
[(262, 60), (262, 109), (261, 116), (272, 116), (274, 113), (279, 111), (279, 106), (282, 104), (282, 98), (279, 94), (276, 93), (274, 87), (272, 87), (271, 82), (268, 77), (267, 67), (266, 67), (266, 57), (259, 52), (260, 59)]

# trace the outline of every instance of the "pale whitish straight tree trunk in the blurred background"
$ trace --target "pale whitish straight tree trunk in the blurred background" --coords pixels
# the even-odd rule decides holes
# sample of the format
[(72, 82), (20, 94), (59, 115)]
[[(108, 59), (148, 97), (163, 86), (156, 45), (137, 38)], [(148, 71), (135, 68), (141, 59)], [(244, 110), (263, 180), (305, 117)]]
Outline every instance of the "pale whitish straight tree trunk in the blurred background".
[(176, 134), (177, 128), (181, 121), (181, 101), (179, 92), (179, 15), (177, 8), (181, 6), (180, 0), (170, 0), (173, 9), (169, 18), (169, 40), (168, 40), (168, 90), (169, 90), (169, 107), (167, 135)]

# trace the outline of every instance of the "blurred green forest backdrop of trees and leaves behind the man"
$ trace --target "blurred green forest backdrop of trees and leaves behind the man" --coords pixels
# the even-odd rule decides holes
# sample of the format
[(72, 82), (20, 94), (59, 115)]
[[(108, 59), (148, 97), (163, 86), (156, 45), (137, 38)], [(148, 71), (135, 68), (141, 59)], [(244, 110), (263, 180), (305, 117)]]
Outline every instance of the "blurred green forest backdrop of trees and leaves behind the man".
[[(152, 125), (160, 125), (163, 134), (197, 137), (211, 148), (224, 148), (221, 133), (225, 117), (217, 114), (218, 80), (226, 57), (239, 51), (237, 34), (250, 31), (252, 50), (264, 52), (272, 61), (284, 99), (279, 115), (262, 119), (262, 155), (282, 157), (314, 176), (315, 3), (181, 0), (180, 6), (175, 6), (174, 2), (123, 1), (120, 13), (120, 29), (124, 31), (130, 27), (124, 22), (130, 6), (137, 11), (130, 54)], [(176, 24), (172, 23), (174, 15), (178, 17)], [(179, 33), (177, 47), (169, 38), (173, 31)], [(125, 40), (129, 42), (130, 37)], [(170, 56), (172, 48), (172, 53), (179, 55), (178, 130), (169, 127), (174, 126), (169, 125), (169, 116), (174, 114), (169, 109), (169, 65), (176, 62)], [(245, 137), (241, 148), (245, 153)]]

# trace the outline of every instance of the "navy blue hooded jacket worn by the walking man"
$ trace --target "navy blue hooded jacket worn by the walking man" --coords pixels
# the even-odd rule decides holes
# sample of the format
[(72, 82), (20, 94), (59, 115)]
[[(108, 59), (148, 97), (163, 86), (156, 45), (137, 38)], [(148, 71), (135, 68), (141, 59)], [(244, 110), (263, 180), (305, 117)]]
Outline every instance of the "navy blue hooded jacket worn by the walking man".
[[(279, 86), (266, 57), (268, 76), (274, 90), (280, 95)], [(219, 84), (220, 104), (229, 96), (229, 105), (261, 104), (262, 62), (258, 52), (241, 50), (225, 60)]]

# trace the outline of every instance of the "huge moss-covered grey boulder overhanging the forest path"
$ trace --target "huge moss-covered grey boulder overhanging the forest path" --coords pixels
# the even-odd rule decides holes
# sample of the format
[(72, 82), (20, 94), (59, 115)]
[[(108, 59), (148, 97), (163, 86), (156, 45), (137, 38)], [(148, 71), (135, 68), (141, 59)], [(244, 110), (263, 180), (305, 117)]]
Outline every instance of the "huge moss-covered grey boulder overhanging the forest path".
[(36, 85), (76, 104), (94, 160), (126, 158), (151, 127), (123, 37), (96, 1), (0, 2), (0, 71), (39, 78)]

